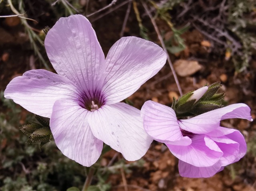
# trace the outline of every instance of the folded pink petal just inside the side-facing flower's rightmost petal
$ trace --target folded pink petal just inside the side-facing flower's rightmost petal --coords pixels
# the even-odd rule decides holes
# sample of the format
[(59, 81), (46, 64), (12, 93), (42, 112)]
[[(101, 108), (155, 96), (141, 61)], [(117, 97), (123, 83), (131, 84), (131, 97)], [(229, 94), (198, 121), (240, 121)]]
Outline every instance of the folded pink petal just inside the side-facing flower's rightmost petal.
[(222, 166), (229, 165), (235, 161), (239, 153), (239, 144), (237, 142), (226, 136), (211, 137), (210, 139), (214, 140), (223, 152), (223, 156), (219, 161)]

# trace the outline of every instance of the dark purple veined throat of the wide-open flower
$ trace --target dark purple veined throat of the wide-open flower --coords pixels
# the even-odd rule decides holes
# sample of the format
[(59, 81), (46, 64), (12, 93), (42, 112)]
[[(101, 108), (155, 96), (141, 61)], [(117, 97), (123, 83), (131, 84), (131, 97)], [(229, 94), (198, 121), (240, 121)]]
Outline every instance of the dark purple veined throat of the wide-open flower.
[(80, 106), (89, 111), (98, 110), (104, 104), (105, 99), (100, 91), (95, 91), (94, 93), (84, 92), (80, 98)]

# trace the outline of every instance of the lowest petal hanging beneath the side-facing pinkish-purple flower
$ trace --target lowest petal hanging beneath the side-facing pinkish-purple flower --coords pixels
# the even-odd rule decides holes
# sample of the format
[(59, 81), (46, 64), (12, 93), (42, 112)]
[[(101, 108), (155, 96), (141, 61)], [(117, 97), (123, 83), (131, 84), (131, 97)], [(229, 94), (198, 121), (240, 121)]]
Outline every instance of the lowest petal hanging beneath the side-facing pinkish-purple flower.
[(221, 165), (218, 162), (209, 167), (196, 167), (182, 160), (179, 160), (178, 167), (180, 175), (188, 178), (212, 177), (221, 169)]

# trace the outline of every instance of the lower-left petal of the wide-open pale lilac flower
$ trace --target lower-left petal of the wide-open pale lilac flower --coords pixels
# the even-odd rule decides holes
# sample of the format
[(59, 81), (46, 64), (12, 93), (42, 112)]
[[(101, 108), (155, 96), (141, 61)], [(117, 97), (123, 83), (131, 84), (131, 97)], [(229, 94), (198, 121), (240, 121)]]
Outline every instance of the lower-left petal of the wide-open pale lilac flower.
[(57, 147), (65, 156), (84, 166), (94, 164), (103, 147), (103, 142), (94, 137), (90, 130), (89, 112), (72, 100), (57, 100), (50, 119)]

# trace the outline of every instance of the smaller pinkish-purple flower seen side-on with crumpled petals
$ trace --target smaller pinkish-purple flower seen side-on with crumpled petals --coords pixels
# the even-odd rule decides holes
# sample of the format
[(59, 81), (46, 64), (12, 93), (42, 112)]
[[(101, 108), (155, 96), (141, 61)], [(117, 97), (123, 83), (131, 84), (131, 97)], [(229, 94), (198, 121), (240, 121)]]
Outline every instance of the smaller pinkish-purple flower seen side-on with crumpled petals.
[(246, 154), (242, 134), (220, 126), (220, 120), (224, 119), (252, 120), (246, 104), (232, 104), (178, 120), (172, 108), (147, 101), (141, 116), (146, 132), (166, 144), (179, 159), (179, 172), (183, 177), (211, 177)]

